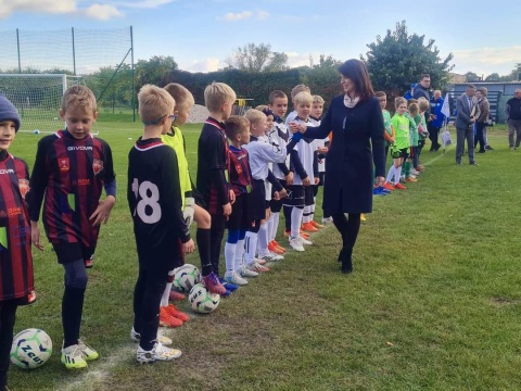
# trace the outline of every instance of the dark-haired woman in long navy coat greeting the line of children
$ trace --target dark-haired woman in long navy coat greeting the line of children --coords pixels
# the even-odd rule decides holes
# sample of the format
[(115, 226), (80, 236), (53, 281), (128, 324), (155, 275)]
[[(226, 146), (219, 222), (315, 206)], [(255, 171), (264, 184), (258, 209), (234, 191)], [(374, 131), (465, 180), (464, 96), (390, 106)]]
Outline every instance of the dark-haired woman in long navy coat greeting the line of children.
[[(333, 217), (342, 236), (342, 273), (353, 270), (352, 253), (360, 228), (360, 214), (372, 211), (376, 187), (384, 185), (385, 142), (380, 101), (374, 97), (366, 65), (347, 60), (339, 66), (344, 94), (331, 100), (319, 127), (290, 125), (305, 138), (323, 139), (332, 131), (326, 164), (323, 213)], [(345, 214), (347, 213), (347, 217)]]

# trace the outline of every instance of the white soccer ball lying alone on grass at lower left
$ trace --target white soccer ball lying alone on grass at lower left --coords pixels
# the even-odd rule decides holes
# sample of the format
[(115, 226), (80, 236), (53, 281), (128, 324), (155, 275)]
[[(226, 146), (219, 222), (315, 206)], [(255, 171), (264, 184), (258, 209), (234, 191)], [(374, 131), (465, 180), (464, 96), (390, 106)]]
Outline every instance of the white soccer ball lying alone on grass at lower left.
[(52, 341), (49, 335), (40, 329), (30, 328), (20, 331), (11, 346), (11, 363), (23, 369), (42, 366), (52, 354)]

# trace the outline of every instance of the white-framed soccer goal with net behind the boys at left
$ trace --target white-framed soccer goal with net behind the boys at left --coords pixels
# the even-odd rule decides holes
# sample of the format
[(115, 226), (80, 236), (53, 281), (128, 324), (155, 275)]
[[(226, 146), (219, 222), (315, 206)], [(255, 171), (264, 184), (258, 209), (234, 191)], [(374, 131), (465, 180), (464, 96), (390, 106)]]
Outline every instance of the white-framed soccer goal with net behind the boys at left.
[(85, 85), (82, 77), (64, 74), (0, 74), (0, 93), (18, 110), (21, 131), (54, 133), (62, 129), (62, 97), (68, 87), (76, 85)]

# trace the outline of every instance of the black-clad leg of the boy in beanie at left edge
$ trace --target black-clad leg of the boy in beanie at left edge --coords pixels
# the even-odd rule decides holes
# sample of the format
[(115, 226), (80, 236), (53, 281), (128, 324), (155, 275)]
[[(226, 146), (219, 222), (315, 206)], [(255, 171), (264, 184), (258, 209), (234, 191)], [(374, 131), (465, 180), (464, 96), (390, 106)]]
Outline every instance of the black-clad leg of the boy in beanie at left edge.
[(8, 383), (9, 354), (13, 343), (16, 306), (14, 300), (0, 302), (0, 390), (2, 391)]

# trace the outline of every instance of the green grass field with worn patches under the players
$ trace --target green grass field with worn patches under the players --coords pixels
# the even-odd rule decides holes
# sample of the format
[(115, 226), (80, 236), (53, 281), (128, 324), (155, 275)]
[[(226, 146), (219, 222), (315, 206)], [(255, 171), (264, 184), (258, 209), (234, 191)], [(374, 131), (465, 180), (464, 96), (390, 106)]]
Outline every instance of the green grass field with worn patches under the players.
[[(185, 130), (192, 168), (199, 129)], [(191, 320), (166, 333), (183, 355), (143, 367), (128, 337), (137, 258), (125, 188), (140, 125), (100, 130), (118, 202), (89, 272), (82, 336), (101, 358), (81, 371), (60, 364), (63, 274), (47, 245), (35, 251), (38, 300), (18, 310), (16, 331), (45, 329), (55, 352), (39, 369), (12, 367), (14, 391), (521, 389), (521, 151), (508, 149), (505, 127), (490, 130), (495, 150), (476, 154), (479, 166), (456, 166), (454, 146), (423, 152), (417, 184), (376, 198), (352, 275), (339, 272), (340, 237), (326, 228), (215, 313), (182, 303)], [(20, 134), (12, 152), (30, 166), (40, 136)]]

